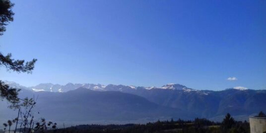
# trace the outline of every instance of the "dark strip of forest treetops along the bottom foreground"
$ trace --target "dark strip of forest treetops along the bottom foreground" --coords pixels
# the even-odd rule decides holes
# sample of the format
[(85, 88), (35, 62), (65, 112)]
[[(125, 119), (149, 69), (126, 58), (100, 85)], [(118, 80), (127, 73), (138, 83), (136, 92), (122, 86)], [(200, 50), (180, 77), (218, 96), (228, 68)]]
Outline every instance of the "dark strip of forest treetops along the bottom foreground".
[[(222, 123), (196, 118), (194, 121), (157, 121), (147, 124), (79, 125), (46, 133), (250, 133), (248, 122), (237, 122), (227, 114)], [(231, 126), (228, 126), (231, 124)]]

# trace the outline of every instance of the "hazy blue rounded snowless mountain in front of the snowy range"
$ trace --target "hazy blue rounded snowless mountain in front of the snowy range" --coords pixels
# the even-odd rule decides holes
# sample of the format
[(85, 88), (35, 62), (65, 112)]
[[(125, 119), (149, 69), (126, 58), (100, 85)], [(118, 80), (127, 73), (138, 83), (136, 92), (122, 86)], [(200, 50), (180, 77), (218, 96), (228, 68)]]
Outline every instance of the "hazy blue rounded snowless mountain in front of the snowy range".
[[(24, 89), (23, 89), (24, 90)], [(23, 91), (20, 95), (38, 97), (35, 115), (57, 122), (71, 121), (147, 121), (171, 118), (192, 119), (195, 115), (150, 102), (134, 94), (119, 91), (94, 91), (78, 88), (65, 93)], [(0, 110), (1, 118), (15, 117), (16, 112)], [(40, 114), (37, 114), (40, 112)], [(38, 118), (38, 117), (36, 117)]]

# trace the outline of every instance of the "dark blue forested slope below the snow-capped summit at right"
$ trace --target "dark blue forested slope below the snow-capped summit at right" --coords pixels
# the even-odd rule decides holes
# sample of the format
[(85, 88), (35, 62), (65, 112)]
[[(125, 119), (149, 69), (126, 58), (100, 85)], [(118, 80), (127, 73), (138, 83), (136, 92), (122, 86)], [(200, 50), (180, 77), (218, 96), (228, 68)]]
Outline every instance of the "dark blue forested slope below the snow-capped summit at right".
[(190, 89), (142, 89), (122, 91), (147, 98), (159, 105), (179, 108), (211, 118), (231, 113), (232, 115), (250, 115), (261, 110), (266, 111), (266, 90), (226, 89), (222, 91)]

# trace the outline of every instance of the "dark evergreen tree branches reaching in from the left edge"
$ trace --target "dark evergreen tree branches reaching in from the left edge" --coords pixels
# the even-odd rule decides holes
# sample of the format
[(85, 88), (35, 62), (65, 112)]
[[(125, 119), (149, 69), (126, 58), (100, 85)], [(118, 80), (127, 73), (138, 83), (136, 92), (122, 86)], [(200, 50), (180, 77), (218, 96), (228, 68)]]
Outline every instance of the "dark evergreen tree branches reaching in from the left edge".
[[(0, 36), (3, 35), (3, 32), (6, 30), (5, 26), (13, 21), (12, 7), (14, 6), (10, 0), (0, 0)], [(7, 71), (31, 73), (34, 69), (34, 64), (37, 59), (32, 61), (25, 62), (24, 60), (14, 60), (11, 56), (11, 53), (3, 55), (0, 52), (0, 67), (3, 66)], [(6, 99), (11, 102), (13, 105), (19, 102), (17, 97), (19, 89), (10, 88), (4, 82), (0, 81), (0, 99)]]

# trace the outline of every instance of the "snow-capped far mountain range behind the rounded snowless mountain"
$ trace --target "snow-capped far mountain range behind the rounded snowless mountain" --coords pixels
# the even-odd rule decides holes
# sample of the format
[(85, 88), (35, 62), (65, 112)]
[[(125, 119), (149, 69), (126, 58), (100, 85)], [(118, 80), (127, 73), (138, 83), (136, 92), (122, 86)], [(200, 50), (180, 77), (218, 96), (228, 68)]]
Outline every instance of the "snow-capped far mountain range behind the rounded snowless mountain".
[[(12, 85), (21, 87), (18, 84)], [(98, 91), (120, 91), (144, 97), (150, 102), (161, 106), (180, 109), (196, 114), (197, 117), (204, 118), (213, 118), (225, 115), (226, 113), (246, 116), (247, 118), (247, 116), (259, 111), (266, 112), (266, 90), (197, 90), (179, 84), (167, 84), (161, 88), (71, 83), (65, 86), (59, 85), (60, 88), (58, 87), (56, 89), (53, 89), (54, 86), (56, 85), (40, 84), (32, 88), (47, 91), (61, 90), (60, 92), (67, 91), (67, 93), (71, 92), (68, 90), (75, 90), (78, 87)], [(51, 87), (52, 89), (50, 89)]]

